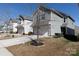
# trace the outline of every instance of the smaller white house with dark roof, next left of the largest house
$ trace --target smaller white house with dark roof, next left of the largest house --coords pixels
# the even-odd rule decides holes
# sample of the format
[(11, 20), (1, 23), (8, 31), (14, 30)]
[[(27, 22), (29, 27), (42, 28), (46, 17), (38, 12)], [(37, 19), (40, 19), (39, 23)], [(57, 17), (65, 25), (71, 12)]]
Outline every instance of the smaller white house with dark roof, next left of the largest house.
[(28, 34), (33, 32), (31, 27), (32, 18), (29, 16), (19, 16), (20, 24), (18, 25), (18, 33)]

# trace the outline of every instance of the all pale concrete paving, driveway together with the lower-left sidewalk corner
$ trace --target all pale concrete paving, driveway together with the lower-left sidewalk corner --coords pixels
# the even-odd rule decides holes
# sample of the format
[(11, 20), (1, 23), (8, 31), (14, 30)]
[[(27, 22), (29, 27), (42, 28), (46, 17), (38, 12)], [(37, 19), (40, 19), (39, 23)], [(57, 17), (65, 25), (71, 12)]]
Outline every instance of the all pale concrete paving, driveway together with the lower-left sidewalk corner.
[(4, 39), (0, 40), (0, 56), (13, 56), (13, 54), (8, 51), (5, 47), (18, 45), (18, 44), (24, 44), (25, 42), (31, 41), (31, 39), (35, 39), (36, 36), (23, 36), (18, 38), (12, 38), (12, 39)]

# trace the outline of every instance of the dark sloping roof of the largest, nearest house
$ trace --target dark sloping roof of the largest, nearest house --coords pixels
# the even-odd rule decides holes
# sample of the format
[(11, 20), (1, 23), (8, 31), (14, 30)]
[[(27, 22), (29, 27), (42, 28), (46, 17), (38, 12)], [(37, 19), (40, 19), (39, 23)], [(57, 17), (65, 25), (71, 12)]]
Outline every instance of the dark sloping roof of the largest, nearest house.
[(38, 9), (40, 9), (42, 11), (45, 11), (45, 12), (48, 12), (48, 13), (53, 12), (56, 15), (58, 15), (59, 17), (61, 17), (61, 18), (67, 18), (67, 17), (69, 17), (73, 22), (75, 21), (71, 16), (69, 16), (69, 15), (67, 15), (67, 14), (65, 14), (63, 12), (60, 12), (58, 10), (55, 10), (55, 9), (49, 9), (49, 8), (46, 8), (46, 7), (43, 7), (43, 6), (40, 6)]

